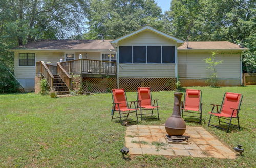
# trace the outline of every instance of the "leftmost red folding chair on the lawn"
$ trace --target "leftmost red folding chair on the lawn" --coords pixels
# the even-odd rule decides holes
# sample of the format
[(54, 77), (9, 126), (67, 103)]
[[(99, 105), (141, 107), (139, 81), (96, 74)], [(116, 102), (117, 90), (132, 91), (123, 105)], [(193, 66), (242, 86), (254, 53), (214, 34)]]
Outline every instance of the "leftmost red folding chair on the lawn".
[[(130, 106), (128, 108), (127, 97), (124, 89), (112, 89), (112, 100), (113, 100), (113, 108), (112, 108), (113, 111), (112, 111), (111, 121), (117, 118), (120, 118), (120, 121), (121, 121), (123, 117), (126, 117), (126, 119), (128, 119), (130, 113), (135, 113), (137, 122), (139, 121), (137, 116), (138, 108), (136, 108), (136, 105), (135, 105), (135, 102), (137, 101), (129, 101)], [(134, 104), (133, 109), (131, 108), (132, 104)], [(113, 118), (116, 111), (119, 112), (119, 117)], [(127, 114), (127, 115), (123, 116), (124, 114)], [(131, 122), (136, 122), (136, 121), (131, 121)]]

